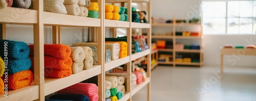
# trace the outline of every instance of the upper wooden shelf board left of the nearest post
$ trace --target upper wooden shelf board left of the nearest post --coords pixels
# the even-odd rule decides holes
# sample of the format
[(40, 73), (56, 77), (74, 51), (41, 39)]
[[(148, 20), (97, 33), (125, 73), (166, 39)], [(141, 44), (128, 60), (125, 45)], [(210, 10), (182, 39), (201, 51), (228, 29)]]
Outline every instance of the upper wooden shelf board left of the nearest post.
[(7, 7), (0, 9), (0, 22), (3, 23), (37, 23), (37, 11)]

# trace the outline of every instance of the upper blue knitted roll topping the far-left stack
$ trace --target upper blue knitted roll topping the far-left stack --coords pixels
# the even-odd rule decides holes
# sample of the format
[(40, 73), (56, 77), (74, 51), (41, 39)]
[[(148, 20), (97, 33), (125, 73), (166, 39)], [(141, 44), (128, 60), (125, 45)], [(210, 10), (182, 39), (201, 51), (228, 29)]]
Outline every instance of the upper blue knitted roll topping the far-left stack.
[[(8, 48), (5, 51), (5, 48)], [(29, 46), (24, 42), (0, 40), (0, 56), (6, 57), (5, 52), (7, 52), (8, 57), (12, 58), (27, 58), (29, 56)]]

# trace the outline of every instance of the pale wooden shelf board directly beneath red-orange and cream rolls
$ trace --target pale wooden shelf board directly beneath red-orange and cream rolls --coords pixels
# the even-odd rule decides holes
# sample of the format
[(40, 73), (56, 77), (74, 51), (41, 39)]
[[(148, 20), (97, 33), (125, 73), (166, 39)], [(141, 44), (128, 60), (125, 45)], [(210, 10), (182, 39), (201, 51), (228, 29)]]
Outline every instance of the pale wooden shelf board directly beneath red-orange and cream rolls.
[(63, 88), (79, 83), (83, 80), (97, 76), (100, 73), (101, 73), (101, 65), (93, 65), (93, 68), (89, 70), (83, 70), (82, 72), (79, 72), (77, 74), (72, 74), (71, 76), (68, 76), (65, 78), (60, 78), (60, 79), (45, 78), (45, 95), (51, 94)]

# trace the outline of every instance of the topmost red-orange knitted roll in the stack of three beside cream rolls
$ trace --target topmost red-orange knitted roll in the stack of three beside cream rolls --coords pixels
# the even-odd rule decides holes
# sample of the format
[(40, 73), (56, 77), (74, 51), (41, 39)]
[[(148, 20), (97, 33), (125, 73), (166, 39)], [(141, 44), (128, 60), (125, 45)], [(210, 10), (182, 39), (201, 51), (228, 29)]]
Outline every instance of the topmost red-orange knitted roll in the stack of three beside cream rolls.
[[(34, 45), (29, 45), (30, 54), (29, 56), (34, 56)], [(70, 57), (71, 49), (68, 45), (61, 44), (45, 44), (44, 45), (45, 56), (52, 56), (57, 58), (67, 58)]]

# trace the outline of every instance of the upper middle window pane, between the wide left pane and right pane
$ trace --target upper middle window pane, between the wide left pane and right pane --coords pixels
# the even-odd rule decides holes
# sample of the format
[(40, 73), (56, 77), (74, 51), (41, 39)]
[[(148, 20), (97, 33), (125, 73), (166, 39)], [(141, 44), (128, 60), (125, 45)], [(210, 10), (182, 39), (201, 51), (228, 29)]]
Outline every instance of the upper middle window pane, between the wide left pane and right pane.
[(228, 17), (239, 17), (239, 1), (228, 2), (227, 7)]

